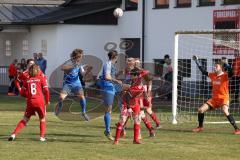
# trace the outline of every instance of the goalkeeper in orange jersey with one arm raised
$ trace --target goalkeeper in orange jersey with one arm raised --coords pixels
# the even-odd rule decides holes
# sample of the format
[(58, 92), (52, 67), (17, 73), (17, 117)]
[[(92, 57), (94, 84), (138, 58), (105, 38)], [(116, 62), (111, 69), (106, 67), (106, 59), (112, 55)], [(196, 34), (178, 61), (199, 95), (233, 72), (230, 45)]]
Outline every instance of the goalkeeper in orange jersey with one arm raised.
[[(208, 76), (211, 79), (212, 84), (212, 98), (205, 102), (198, 109), (198, 122), (199, 126), (194, 128), (193, 132), (201, 132), (203, 131), (203, 121), (204, 121), (204, 113), (206, 111), (214, 110), (217, 108), (221, 108), (228, 121), (234, 127), (234, 134), (240, 135), (240, 130), (233, 118), (233, 116), (229, 113), (229, 77), (232, 76), (232, 69), (223, 68), (220, 62), (216, 62), (214, 65), (214, 72), (207, 72), (198, 62), (198, 58), (193, 56), (193, 60), (196, 62), (198, 68), (202, 72), (203, 75)], [(223, 70), (225, 72), (223, 72)]]

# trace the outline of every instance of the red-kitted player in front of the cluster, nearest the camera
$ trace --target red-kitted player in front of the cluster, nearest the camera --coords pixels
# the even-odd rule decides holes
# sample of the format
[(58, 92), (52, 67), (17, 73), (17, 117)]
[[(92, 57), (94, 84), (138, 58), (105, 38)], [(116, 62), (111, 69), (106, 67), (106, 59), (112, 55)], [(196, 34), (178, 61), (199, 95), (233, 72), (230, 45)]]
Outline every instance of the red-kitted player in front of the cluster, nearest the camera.
[(143, 86), (141, 85), (141, 81), (139, 81), (140, 70), (134, 68), (131, 70), (131, 87), (128, 91), (123, 94), (123, 107), (121, 111), (121, 119), (119, 120), (116, 128), (116, 136), (114, 140), (114, 144), (118, 144), (121, 132), (123, 130), (123, 126), (129, 116), (131, 116), (134, 120), (134, 144), (140, 144), (139, 134), (140, 134), (140, 103), (141, 97), (144, 94)]

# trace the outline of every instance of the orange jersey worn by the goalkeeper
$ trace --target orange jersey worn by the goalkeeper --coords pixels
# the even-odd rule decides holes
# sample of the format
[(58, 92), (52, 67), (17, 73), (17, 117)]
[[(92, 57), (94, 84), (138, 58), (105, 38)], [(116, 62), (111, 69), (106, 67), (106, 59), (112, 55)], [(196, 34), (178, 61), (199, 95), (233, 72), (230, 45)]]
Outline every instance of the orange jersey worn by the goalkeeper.
[(228, 74), (209, 73), (208, 76), (212, 82), (212, 99), (229, 100)]

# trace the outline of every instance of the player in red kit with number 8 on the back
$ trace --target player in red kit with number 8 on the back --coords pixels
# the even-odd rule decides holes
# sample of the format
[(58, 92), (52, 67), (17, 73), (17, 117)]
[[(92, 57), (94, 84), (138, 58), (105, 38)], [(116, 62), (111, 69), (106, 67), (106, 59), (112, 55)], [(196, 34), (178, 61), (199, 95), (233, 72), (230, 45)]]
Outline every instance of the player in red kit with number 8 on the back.
[(27, 98), (27, 108), (23, 119), (17, 124), (14, 132), (9, 137), (9, 141), (15, 139), (20, 130), (26, 126), (31, 116), (35, 115), (35, 112), (37, 112), (40, 121), (40, 141), (45, 141), (46, 105), (50, 103), (47, 79), (41, 75), (39, 66), (35, 64), (29, 68), (28, 73), (29, 77), (25, 79), (23, 87), (20, 89), (20, 94)]

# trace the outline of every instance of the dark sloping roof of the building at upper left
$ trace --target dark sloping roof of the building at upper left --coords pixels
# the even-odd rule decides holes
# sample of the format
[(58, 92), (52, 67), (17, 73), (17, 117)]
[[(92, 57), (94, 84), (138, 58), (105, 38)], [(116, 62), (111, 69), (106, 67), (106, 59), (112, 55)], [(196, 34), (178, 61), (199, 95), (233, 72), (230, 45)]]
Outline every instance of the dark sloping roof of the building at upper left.
[[(55, 3), (57, 1), (58, 3)], [(108, 20), (105, 20), (109, 22), (109, 19), (112, 21), (111, 17), (109, 18), (110, 10), (121, 4), (121, 0), (66, 0), (64, 4), (60, 2), (61, 0), (0, 0), (0, 25), (63, 23), (104, 11), (108, 11), (104, 14), (107, 14)], [(99, 15), (96, 16), (99, 18)], [(95, 17), (91, 17), (91, 23)]]

